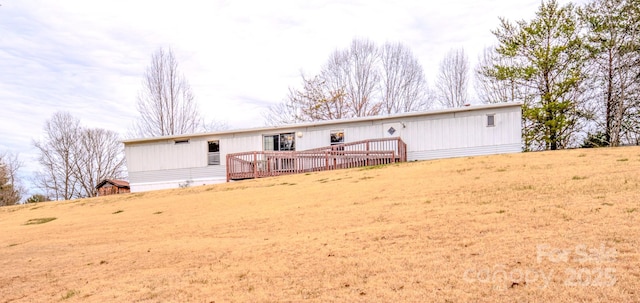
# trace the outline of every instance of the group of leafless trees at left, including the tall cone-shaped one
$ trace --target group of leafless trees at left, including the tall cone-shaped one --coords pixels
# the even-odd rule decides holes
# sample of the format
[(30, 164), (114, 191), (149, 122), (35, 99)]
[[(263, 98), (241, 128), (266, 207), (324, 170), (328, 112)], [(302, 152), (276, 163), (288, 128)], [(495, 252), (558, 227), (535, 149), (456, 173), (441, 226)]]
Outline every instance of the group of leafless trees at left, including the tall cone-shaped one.
[[(179, 72), (171, 51), (158, 49), (143, 77), (139, 116), (128, 137), (157, 137), (224, 128), (206, 123), (191, 87)], [(22, 162), (14, 154), (0, 155), (0, 206), (94, 197), (104, 179), (126, 177), (122, 136), (115, 131), (88, 128), (68, 112), (57, 112), (45, 122), (43, 138), (34, 140), (40, 170), (32, 183), (40, 191), (22, 201), (27, 192), (17, 171)]]

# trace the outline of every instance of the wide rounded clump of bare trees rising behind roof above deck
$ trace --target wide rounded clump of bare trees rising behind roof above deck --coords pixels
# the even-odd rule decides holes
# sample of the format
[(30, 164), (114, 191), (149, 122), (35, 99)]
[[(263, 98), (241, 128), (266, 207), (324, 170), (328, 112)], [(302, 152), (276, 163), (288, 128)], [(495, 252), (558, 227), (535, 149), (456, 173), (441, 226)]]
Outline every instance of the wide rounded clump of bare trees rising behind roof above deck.
[(285, 124), (424, 110), (432, 98), (422, 66), (400, 43), (376, 46), (354, 39), (336, 50), (315, 77), (302, 75), (302, 89), (269, 108), (267, 123)]

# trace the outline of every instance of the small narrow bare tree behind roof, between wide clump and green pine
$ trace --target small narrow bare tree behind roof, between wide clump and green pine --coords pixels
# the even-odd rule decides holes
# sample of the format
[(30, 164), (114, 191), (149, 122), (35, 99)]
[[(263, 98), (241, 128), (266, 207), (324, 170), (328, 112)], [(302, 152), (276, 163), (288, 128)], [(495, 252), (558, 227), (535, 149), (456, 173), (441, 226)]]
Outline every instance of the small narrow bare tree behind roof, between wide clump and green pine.
[(440, 61), (436, 88), (440, 104), (444, 107), (461, 107), (467, 103), (469, 59), (464, 49), (452, 49)]

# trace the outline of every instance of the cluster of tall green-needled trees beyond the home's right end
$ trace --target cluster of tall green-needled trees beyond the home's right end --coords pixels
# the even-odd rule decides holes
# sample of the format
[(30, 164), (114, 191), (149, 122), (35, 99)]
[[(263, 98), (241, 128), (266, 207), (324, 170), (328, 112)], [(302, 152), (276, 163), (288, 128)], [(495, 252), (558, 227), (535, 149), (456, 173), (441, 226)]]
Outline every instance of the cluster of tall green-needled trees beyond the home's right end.
[(639, 143), (640, 1), (547, 1), (493, 33), (478, 80), (524, 103), (526, 150)]

